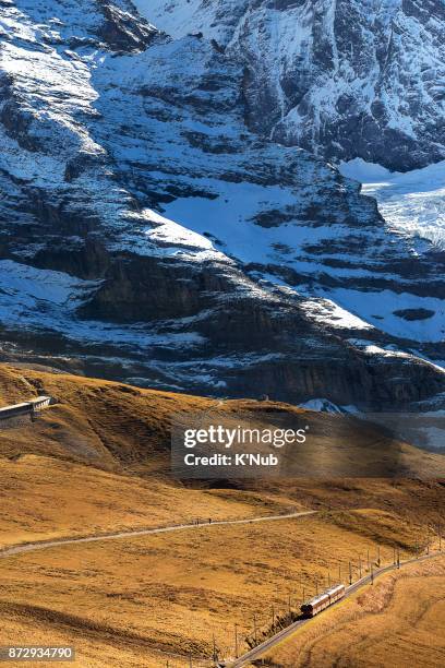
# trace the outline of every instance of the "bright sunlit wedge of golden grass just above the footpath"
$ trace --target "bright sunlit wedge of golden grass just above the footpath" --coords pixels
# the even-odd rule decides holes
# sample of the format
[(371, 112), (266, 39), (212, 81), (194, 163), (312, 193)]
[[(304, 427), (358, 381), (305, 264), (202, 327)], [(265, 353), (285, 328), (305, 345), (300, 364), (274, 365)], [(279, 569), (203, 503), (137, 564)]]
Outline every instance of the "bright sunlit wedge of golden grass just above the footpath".
[(0, 458), (0, 548), (192, 523), (204, 515), (236, 520), (285, 508), (267, 496), (219, 496), (37, 455)]

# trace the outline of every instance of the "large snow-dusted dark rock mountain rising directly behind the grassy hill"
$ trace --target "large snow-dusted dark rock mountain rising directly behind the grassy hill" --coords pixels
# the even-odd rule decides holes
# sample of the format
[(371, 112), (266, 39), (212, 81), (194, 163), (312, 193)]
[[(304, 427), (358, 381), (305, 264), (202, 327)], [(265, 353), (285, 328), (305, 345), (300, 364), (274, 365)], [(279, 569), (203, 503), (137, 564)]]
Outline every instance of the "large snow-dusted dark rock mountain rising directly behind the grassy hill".
[(237, 8), (207, 38), (155, 5), (0, 0), (2, 338), (163, 387), (437, 402), (443, 252), (255, 127)]

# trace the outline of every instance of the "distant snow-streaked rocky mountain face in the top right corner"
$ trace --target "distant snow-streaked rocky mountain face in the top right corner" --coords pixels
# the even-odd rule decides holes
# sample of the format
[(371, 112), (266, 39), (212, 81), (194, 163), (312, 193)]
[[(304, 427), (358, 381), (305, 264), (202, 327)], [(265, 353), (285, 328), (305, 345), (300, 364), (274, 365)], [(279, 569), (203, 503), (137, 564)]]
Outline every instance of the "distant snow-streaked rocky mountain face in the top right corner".
[(135, 0), (244, 67), (250, 128), (327, 159), (445, 158), (443, 0)]

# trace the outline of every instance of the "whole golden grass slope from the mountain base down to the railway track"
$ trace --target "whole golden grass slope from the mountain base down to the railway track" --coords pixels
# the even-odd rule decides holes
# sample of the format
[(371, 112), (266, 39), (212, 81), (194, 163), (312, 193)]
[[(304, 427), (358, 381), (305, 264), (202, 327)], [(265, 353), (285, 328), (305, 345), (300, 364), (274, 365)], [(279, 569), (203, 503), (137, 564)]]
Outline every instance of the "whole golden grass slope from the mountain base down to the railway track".
[[(238, 648), (246, 649), (254, 619), (258, 635), (267, 632), (273, 609), (276, 617), (285, 616), (290, 597), (297, 610), (303, 594), (338, 580), (339, 569), (346, 581), (349, 562), (358, 577), (378, 550), (389, 562), (395, 548), (408, 557), (436, 540), (431, 527), (443, 516), (445, 487), (419, 475), (438, 470), (441, 457), (421, 455), (371, 427), (356, 433), (356, 420), (342, 425), (338, 420), (345, 418), (336, 418), (337, 431), (340, 425), (364, 449), (373, 449), (373, 457), (392, 449), (401, 453), (411, 479), (192, 486), (169, 473), (171, 416), (211, 409), (216, 402), (0, 366), (3, 405), (43, 393), (60, 403), (34, 424), (0, 430), (0, 548), (195, 517), (316, 514), (207, 524), (2, 558), (0, 645), (73, 644), (82, 667), (163, 668), (168, 661), (182, 668), (190, 665), (190, 653), (195, 668), (209, 666), (213, 635), (220, 656), (233, 655), (237, 624)], [(296, 419), (302, 415), (248, 401), (225, 402), (218, 410), (250, 411), (262, 425), (277, 410)], [(316, 420), (320, 442), (327, 448), (334, 418)], [(350, 656), (352, 663), (338, 665), (354, 666)]]

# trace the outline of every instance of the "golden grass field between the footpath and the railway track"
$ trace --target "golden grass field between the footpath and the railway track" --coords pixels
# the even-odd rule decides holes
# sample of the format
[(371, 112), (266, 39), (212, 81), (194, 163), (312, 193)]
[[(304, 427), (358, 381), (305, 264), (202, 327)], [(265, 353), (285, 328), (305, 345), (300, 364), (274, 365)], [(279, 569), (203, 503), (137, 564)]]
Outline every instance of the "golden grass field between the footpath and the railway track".
[[(233, 656), (237, 624), (245, 651), (255, 616), (258, 633), (267, 631), (273, 608), (286, 615), (289, 597), (298, 610), (339, 569), (346, 581), (349, 561), (357, 578), (359, 558), (363, 571), (378, 548), (383, 563), (393, 561), (395, 545), (406, 558), (424, 532), (387, 513), (366, 515), (349, 526), (333, 513), (17, 554), (1, 561), (2, 643), (57, 637), (76, 646), (82, 667), (185, 667), (190, 652), (193, 666), (209, 666), (213, 635), (219, 655)], [(362, 530), (368, 524), (372, 535)]]

